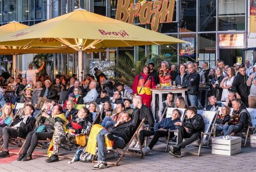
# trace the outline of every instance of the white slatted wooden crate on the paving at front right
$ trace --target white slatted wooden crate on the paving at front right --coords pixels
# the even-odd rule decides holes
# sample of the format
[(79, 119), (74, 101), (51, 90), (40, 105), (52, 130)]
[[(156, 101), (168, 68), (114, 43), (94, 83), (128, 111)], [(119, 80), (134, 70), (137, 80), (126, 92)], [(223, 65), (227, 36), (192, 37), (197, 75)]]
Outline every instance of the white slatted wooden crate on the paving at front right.
[(224, 140), (223, 136), (212, 138), (212, 154), (234, 155), (241, 152), (241, 137), (230, 136)]

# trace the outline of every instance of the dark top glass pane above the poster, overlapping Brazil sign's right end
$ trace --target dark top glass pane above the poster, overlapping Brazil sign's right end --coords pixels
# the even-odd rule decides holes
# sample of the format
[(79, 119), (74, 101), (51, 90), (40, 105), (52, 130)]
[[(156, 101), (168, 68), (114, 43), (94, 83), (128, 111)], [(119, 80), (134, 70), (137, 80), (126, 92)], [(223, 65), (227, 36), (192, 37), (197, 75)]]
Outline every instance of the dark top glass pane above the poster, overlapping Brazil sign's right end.
[(196, 31), (196, 0), (180, 1), (180, 32)]

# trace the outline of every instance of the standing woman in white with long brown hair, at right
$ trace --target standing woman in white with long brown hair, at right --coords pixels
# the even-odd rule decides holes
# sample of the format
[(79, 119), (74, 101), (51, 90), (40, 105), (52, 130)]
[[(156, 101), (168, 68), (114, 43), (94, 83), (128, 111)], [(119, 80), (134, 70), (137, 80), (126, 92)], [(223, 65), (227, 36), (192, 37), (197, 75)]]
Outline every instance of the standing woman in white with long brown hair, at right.
[(228, 97), (228, 89), (232, 87), (232, 83), (234, 81), (236, 72), (233, 67), (228, 68), (227, 70), (227, 76), (223, 78), (223, 80), (220, 83), (220, 87), (223, 89), (222, 90), (222, 96), (221, 96), (221, 101), (226, 101)]

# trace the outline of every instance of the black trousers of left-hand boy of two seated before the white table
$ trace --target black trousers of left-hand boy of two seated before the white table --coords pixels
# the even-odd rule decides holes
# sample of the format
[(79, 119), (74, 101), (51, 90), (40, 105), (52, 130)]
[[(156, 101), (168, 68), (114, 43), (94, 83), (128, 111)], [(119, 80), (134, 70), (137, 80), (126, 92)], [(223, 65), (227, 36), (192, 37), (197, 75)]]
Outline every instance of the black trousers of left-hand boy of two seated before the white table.
[(148, 147), (150, 149), (152, 149), (154, 147), (154, 145), (156, 145), (156, 143), (159, 140), (159, 138), (164, 137), (164, 136), (168, 136), (168, 131), (161, 131), (161, 130), (147, 131), (147, 130), (141, 130), (139, 135), (140, 135), (140, 143), (141, 144), (144, 143), (145, 136), (153, 136), (154, 135), (152, 141), (148, 145)]

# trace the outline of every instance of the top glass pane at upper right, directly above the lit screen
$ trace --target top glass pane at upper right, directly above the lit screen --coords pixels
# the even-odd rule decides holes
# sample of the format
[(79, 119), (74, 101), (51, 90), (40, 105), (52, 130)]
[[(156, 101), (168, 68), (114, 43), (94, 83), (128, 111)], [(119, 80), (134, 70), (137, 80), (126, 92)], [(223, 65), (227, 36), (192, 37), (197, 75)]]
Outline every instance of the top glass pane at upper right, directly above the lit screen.
[(244, 31), (246, 1), (219, 1), (219, 31)]

